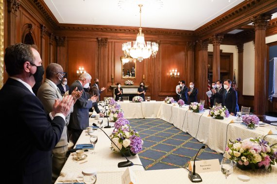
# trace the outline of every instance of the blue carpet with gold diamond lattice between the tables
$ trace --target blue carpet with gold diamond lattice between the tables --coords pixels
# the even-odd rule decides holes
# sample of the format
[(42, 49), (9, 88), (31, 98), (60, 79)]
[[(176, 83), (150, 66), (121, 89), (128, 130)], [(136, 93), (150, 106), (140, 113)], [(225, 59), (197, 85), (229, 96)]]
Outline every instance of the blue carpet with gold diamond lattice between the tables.
[[(188, 162), (204, 145), (161, 119), (128, 120), (144, 142), (138, 156), (147, 170), (188, 167)], [(206, 147), (196, 160), (217, 158), (221, 161), (223, 155)]]

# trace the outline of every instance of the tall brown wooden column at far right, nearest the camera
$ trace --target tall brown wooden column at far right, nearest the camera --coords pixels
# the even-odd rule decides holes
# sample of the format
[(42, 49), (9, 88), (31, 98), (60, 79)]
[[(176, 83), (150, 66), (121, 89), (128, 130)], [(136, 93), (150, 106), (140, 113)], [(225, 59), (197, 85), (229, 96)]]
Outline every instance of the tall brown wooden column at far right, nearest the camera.
[(254, 113), (261, 121), (266, 120), (266, 45), (265, 30), (271, 15), (259, 15), (251, 18), (255, 27), (255, 81)]

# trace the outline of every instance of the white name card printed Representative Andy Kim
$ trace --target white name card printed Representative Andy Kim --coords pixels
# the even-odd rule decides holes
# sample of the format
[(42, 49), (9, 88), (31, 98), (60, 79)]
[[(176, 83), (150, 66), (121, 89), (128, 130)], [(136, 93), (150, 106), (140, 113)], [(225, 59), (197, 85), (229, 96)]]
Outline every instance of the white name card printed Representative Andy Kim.
[[(191, 171), (192, 171), (193, 164), (194, 162), (191, 161), (189, 165), (189, 169)], [(221, 167), (218, 159), (195, 161), (195, 172), (202, 173), (202, 172), (215, 172), (215, 171), (221, 171)]]

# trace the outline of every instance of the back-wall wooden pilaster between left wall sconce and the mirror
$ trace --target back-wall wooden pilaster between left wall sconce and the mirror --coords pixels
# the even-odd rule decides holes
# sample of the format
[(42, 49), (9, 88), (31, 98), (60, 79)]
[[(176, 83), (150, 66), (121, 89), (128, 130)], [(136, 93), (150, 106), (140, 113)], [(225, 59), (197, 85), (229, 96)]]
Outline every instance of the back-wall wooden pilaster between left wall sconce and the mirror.
[[(107, 77), (110, 77), (111, 75), (108, 75), (107, 71), (107, 45), (108, 45), (108, 38), (97, 38), (98, 41), (98, 70), (96, 70), (96, 76), (99, 79), (99, 87), (105, 87), (106, 90), (108, 88), (107, 85)], [(104, 90), (101, 93), (101, 100), (106, 96), (106, 90)]]

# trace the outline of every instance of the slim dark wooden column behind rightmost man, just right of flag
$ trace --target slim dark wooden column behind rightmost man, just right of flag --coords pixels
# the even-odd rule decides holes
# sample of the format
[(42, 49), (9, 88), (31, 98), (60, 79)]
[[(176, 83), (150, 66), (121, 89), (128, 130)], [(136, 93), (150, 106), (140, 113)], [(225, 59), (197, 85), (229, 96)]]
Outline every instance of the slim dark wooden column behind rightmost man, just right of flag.
[(237, 76), (238, 80), (238, 104), (242, 105), (242, 89), (243, 89), (243, 43), (237, 45), (238, 48), (238, 72)]

